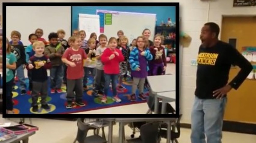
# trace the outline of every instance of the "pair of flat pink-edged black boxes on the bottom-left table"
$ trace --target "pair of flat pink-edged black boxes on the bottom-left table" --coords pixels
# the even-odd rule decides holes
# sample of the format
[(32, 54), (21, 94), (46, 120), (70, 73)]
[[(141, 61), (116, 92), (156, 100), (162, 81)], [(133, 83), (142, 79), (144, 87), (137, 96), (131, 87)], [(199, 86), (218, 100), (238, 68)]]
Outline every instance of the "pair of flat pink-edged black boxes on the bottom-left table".
[(37, 131), (37, 130), (38, 130), (38, 127), (29, 125), (29, 124), (20, 124), (20, 125), (16, 125), (16, 126), (1, 128), (2, 132), (16, 134), (16, 135), (33, 132), (33, 131)]

